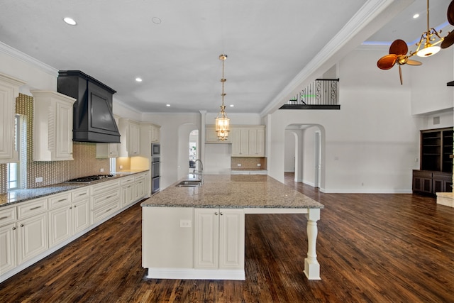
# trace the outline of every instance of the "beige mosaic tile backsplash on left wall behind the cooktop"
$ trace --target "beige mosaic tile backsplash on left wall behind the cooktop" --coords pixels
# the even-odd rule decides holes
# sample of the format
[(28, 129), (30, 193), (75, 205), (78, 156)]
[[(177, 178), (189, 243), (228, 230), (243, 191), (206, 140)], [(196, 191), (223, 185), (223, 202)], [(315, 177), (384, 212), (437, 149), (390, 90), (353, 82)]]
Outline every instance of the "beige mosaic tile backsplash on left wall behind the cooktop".
[[(43, 187), (86, 175), (108, 174), (109, 159), (96, 159), (96, 143), (73, 143), (73, 158), (69, 161), (33, 161), (33, 97), (19, 94), (16, 99), (16, 114), (21, 114), (26, 121), (26, 170), (21, 171), (24, 188)], [(101, 168), (104, 172), (100, 172)], [(35, 178), (43, 177), (43, 182)], [(7, 165), (0, 164), (0, 193), (7, 192)]]

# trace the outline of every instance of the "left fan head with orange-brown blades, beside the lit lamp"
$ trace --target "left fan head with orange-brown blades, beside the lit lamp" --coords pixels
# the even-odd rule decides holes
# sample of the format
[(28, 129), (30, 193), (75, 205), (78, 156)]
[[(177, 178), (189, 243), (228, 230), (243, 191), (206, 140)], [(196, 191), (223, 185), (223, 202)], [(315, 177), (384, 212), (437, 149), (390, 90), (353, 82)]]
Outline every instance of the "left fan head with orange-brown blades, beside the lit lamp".
[[(454, 1), (454, 0), (453, 0)], [(408, 65), (421, 65), (422, 63), (416, 60), (410, 60), (409, 57), (414, 55), (406, 55), (408, 53), (409, 47), (406, 45), (404, 40), (397, 39), (389, 46), (389, 55), (385, 55), (381, 57), (377, 61), (377, 67), (381, 70), (389, 70), (391, 69), (396, 63), (399, 65), (399, 78), (400, 84), (403, 84), (402, 81), (402, 68), (401, 65), (408, 64)]]

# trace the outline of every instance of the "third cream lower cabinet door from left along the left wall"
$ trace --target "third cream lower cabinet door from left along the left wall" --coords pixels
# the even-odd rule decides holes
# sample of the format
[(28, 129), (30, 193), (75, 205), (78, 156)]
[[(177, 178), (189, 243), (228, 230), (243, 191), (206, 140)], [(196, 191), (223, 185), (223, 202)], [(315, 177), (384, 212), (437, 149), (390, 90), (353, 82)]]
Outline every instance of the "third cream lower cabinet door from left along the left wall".
[(71, 236), (71, 206), (49, 211), (49, 246), (55, 246)]

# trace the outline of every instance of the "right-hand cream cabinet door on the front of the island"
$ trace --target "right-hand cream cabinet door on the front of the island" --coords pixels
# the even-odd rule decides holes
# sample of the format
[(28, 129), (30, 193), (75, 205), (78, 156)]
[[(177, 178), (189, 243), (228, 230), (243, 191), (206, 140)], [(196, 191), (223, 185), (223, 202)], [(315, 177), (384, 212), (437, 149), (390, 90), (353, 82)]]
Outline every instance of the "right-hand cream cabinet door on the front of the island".
[(244, 268), (244, 211), (221, 209), (219, 211), (219, 268)]

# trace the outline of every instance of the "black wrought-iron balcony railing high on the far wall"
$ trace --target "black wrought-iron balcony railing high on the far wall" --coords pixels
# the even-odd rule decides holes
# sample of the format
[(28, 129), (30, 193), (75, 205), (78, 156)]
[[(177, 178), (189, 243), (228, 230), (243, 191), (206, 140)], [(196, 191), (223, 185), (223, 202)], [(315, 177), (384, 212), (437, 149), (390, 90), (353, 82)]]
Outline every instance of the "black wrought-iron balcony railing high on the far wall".
[(316, 79), (279, 109), (341, 109), (339, 79)]

